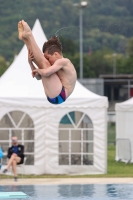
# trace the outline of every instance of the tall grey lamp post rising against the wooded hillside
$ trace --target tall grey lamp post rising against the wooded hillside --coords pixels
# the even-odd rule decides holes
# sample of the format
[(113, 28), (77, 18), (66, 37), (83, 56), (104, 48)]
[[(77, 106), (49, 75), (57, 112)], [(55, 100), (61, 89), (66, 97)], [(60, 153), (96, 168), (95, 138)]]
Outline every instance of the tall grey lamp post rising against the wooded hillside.
[(80, 50), (80, 79), (83, 78), (83, 8), (87, 6), (87, 1), (75, 3), (74, 6), (79, 7), (79, 50)]

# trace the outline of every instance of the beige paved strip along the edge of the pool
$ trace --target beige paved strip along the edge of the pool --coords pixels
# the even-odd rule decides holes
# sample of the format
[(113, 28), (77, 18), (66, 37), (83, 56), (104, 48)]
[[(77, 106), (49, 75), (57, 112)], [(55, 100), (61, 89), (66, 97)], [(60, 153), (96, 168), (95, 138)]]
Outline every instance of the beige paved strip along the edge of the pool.
[(133, 178), (48, 178), (48, 179), (0, 179), (0, 185), (55, 185), (55, 184), (133, 184)]

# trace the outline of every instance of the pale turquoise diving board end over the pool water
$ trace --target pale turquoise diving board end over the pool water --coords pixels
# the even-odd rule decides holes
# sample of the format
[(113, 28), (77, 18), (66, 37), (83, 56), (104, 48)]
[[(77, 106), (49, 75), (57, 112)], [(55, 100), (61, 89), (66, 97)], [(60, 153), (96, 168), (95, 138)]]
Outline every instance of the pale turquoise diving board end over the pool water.
[(24, 192), (0, 192), (0, 199), (24, 199), (29, 198)]

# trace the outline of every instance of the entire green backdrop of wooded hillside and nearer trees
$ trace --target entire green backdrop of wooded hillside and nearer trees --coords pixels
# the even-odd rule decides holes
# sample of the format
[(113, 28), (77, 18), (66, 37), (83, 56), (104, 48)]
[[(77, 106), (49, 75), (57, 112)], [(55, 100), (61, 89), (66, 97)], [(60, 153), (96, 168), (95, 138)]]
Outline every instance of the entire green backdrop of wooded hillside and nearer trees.
[[(77, 2), (0, 0), (0, 75), (23, 46), (18, 40), (18, 21), (24, 19), (32, 28), (37, 18), (48, 39), (57, 33), (64, 56), (79, 74), (79, 8), (73, 6)], [(88, 0), (83, 9), (84, 77), (112, 73), (114, 52), (117, 73), (133, 73), (132, 8), (132, 0)]]

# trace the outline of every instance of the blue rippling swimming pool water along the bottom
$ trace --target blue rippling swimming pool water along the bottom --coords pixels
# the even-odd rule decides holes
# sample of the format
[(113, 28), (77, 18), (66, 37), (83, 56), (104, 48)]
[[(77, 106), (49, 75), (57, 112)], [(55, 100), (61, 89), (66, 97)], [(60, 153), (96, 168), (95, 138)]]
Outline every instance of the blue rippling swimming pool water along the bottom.
[[(0, 186), (0, 192), (22, 191), (29, 200), (130, 200), (133, 184), (14, 185)], [(2, 198), (0, 198), (2, 200)], [(5, 200), (5, 199), (3, 199)], [(17, 199), (16, 199), (17, 200)]]

